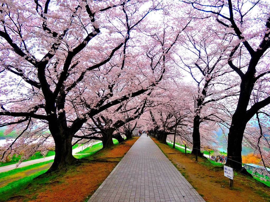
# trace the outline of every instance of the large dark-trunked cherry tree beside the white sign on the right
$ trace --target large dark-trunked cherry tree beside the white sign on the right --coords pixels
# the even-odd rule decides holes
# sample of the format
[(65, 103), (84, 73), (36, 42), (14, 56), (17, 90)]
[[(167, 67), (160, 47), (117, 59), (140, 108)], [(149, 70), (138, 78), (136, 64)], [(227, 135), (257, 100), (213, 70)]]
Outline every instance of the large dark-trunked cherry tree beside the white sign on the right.
[[(193, 6), (201, 15), (214, 18), (216, 22), (227, 27), (227, 32), (234, 36), (228, 65), (239, 76), (241, 82), (237, 107), (232, 116), (228, 133), (228, 156), (236, 170), (242, 169), (242, 140), (248, 121), (258, 110), (269, 105), (269, 2), (264, 1), (184, 1)], [(203, 13), (203, 14), (202, 14)], [(263, 82), (264, 93), (259, 101), (250, 102), (252, 91), (257, 91)], [(227, 161), (230, 163), (230, 161)]]

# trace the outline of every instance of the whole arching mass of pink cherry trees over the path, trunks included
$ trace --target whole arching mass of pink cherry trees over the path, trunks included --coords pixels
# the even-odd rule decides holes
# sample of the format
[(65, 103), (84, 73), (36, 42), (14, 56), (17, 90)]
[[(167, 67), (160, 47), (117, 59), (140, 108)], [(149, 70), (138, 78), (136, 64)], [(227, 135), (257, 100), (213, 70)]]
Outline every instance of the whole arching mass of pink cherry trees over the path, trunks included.
[(145, 127), (201, 149), (221, 128), (235, 169), (242, 145), (269, 166), (269, 6), (2, 1), (0, 127), (18, 137), (0, 159), (54, 149), (51, 172), (77, 161), (77, 142), (110, 147)]

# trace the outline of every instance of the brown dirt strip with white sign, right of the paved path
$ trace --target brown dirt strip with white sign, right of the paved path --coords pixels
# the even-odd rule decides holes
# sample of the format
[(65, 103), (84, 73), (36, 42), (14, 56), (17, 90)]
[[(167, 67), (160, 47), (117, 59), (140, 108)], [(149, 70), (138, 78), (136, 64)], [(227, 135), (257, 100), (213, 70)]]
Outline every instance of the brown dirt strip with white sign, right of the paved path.
[[(154, 140), (154, 139), (153, 139)], [(205, 161), (161, 144), (154, 140), (168, 156), (177, 169), (191, 183), (196, 191), (208, 202), (270, 202), (270, 188), (256, 183), (255, 180), (241, 174), (234, 174), (234, 187), (230, 187), (229, 178), (224, 176), (224, 170), (218, 166), (205, 166), (199, 163)]]

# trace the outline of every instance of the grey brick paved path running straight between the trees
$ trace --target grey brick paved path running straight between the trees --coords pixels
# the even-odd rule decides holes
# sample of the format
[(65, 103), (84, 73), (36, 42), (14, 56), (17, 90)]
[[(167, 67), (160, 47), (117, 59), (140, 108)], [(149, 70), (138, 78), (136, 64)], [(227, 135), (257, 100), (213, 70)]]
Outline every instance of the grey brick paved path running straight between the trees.
[(204, 200), (153, 140), (142, 135), (88, 202), (97, 201), (202, 202)]

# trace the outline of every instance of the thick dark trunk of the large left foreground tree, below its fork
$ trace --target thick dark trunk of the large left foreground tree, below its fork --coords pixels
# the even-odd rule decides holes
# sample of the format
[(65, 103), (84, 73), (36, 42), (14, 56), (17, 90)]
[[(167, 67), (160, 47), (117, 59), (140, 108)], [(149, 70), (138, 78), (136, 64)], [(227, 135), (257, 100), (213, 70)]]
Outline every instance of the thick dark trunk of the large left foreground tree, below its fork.
[(52, 166), (46, 173), (64, 169), (67, 165), (79, 161), (72, 155), (72, 135), (59, 134), (54, 136), (55, 158)]

